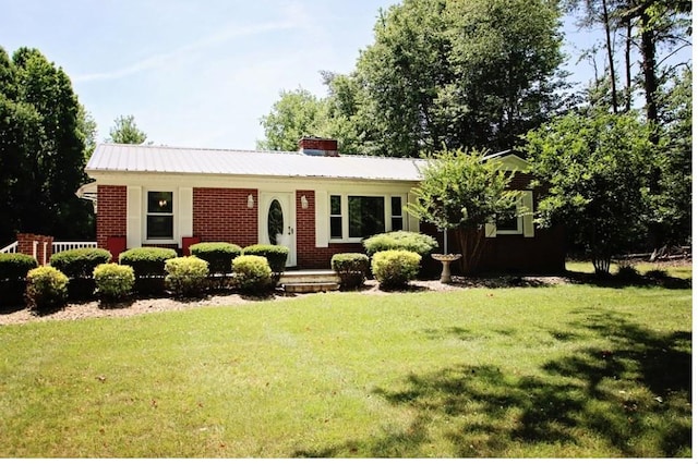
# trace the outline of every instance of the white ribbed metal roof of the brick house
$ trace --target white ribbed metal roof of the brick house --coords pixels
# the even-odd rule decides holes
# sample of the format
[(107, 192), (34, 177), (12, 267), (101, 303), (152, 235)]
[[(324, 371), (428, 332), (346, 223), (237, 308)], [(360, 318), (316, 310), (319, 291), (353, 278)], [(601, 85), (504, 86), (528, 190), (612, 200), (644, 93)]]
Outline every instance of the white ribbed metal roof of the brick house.
[(100, 144), (85, 171), (419, 181), (425, 162), (354, 155), (321, 157), (291, 151)]

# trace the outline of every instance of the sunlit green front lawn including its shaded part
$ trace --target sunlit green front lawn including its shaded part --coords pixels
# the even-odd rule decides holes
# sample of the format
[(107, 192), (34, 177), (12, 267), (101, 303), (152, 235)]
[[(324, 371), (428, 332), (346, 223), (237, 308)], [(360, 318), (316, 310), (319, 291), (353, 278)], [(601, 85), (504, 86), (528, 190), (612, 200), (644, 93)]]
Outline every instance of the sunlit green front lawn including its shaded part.
[(0, 327), (2, 456), (690, 456), (691, 292), (332, 293)]

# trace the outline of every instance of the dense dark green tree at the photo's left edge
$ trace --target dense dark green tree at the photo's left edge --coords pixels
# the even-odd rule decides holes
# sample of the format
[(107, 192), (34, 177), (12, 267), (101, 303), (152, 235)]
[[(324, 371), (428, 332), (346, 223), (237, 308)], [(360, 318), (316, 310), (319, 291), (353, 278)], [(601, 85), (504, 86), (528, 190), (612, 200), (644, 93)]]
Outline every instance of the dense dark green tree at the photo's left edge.
[(36, 49), (10, 59), (0, 47), (0, 243), (91, 230), (92, 206), (75, 196), (87, 180), (83, 118), (62, 69)]

